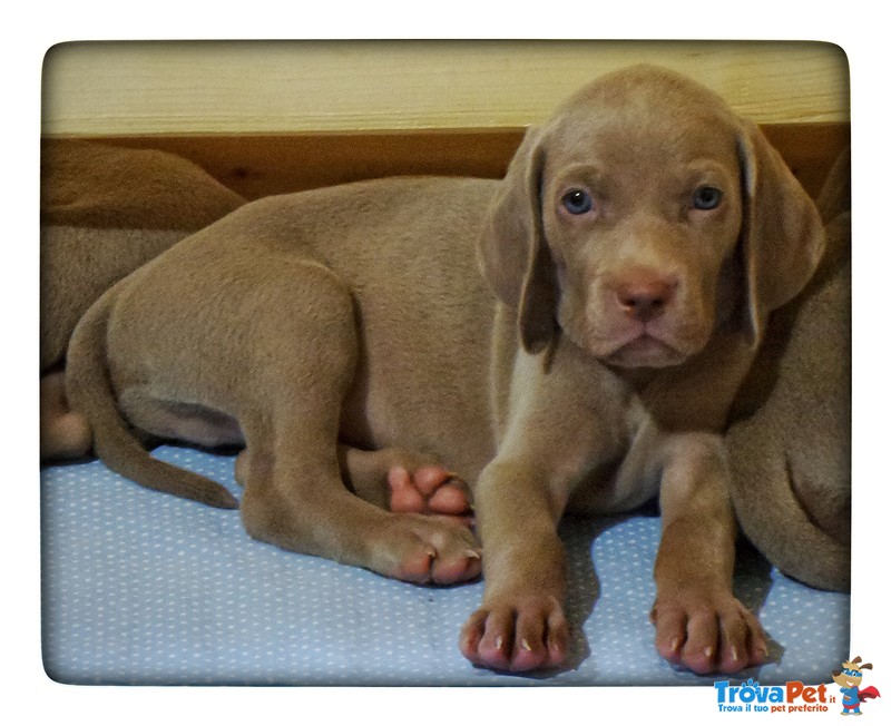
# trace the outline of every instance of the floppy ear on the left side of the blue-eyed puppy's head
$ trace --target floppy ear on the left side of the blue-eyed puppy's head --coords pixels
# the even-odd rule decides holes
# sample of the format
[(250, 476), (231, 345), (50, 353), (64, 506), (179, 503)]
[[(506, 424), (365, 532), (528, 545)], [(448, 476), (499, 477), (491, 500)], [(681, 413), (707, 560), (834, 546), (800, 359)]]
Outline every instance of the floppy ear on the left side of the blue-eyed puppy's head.
[(529, 353), (557, 332), (557, 282), (541, 226), (541, 131), (527, 131), (486, 217), (478, 253), (496, 295), (517, 310)]

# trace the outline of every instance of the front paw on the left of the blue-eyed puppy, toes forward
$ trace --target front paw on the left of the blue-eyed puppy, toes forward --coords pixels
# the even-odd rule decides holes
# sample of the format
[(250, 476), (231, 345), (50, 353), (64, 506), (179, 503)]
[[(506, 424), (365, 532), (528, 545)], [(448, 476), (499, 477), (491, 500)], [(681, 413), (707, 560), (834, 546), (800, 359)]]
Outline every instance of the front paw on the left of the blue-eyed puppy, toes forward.
[(470, 616), (459, 647), (471, 663), (513, 673), (552, 668), (566, 659), (569, 625), (550, 596), (499, 598)]

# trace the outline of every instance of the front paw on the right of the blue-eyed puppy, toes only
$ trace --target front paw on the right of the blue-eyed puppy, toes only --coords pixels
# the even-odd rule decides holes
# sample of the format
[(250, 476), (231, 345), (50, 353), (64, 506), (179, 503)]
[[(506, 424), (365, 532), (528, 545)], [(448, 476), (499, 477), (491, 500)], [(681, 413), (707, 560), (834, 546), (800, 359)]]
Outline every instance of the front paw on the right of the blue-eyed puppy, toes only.
[(650, 619), (659, 655), (697, 674), (736, 673), (767, 657), (761, 625), (730, 592), (658, 598)]

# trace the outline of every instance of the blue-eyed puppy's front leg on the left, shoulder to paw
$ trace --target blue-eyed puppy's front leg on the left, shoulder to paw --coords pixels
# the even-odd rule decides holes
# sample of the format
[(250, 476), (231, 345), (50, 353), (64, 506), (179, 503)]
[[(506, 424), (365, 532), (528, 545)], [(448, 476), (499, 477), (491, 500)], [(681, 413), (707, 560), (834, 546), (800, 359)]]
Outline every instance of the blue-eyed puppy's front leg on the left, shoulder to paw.
[[(480, 474), (474, 510), (482, 541), (482, 607), (461, 630), (472, 663), (502, 670), (552, 667), (566, 659), (566, 571), (557, 524), (604, 435), (596, 390), (581, 385), (582, 356), (559, 350), (550, 372), (519, 354), (498, 454)], [(588, 366), (589, 369), (589, 366)]]

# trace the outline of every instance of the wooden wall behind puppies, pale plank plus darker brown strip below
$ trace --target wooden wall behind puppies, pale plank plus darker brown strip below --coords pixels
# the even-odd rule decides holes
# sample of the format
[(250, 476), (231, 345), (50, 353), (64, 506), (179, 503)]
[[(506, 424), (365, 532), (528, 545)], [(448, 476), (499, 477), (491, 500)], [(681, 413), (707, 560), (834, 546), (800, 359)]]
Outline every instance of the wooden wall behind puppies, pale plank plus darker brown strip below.
[(172, 150), (252, 198), (391, 174), (499, 177), (525, 127), (633, 62), (719, 92), (811, 192), (846, 143), (840, 49), (716, 41), (65, 43), (45, 61), (42, 135)]

